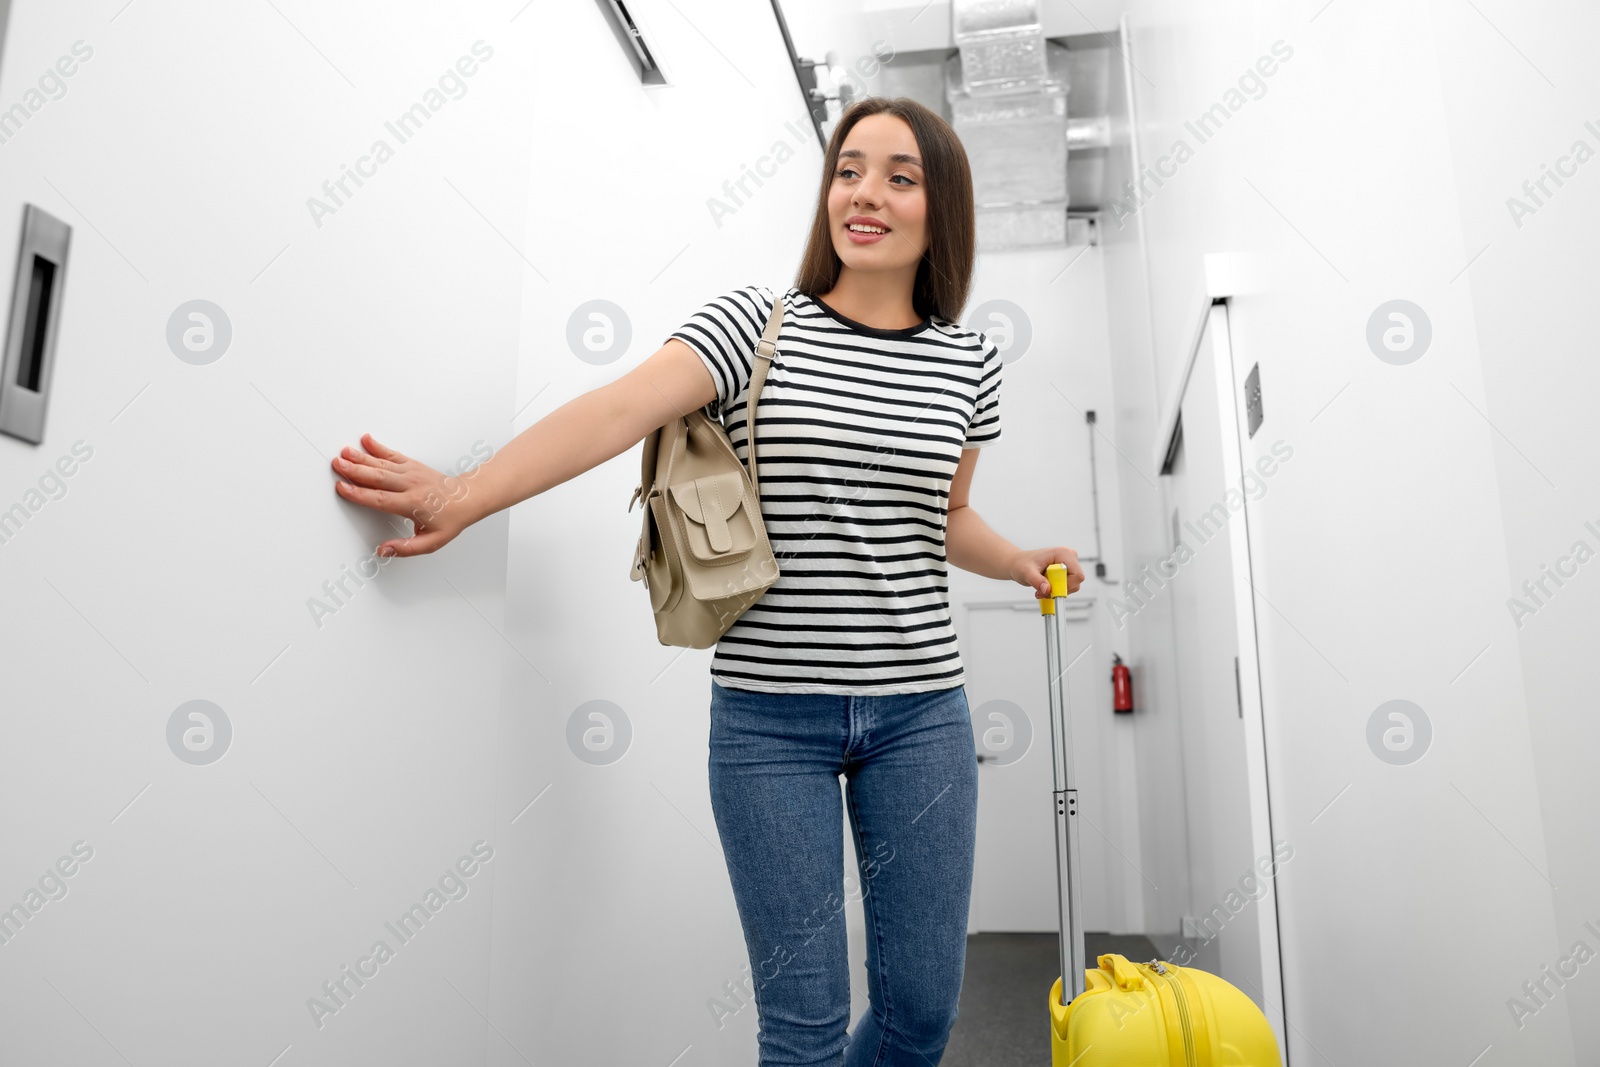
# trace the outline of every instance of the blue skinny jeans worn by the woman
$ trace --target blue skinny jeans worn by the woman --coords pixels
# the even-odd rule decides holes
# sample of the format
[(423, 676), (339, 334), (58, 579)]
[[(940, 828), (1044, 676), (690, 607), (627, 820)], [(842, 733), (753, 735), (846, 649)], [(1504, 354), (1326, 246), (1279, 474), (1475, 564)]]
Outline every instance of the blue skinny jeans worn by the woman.
[[(838, 696), (712, 681), (709, 766), (760, 1067), (936, 1065), (962, 992), (978, 832), (965, 686)], [(848, 1037), (846, 899), (862, 902), (870, 1000)]]

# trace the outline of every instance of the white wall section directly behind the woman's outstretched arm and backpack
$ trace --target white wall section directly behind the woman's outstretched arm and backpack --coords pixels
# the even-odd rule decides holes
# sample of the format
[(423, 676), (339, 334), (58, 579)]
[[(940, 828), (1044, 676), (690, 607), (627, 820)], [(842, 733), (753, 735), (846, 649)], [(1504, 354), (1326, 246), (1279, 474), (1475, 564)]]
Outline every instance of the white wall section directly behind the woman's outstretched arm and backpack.
[[(650, 357), (706, 301), (786, 288), (798, 267), (821, 150), (771, 10), (629, 10), (672, 86), (640, 90), (592, 3), (525, 16), (560, 51), (530, 86), (538, 272), (522, 275), (526, 406), (512, 432)], [(723, 182), (746, 168), (771, 176), (736, 203)], [(730, 211), (720, 226), (710, 198)], [(592, 365), (568, 322), (597, 299), (619, 309), (608, 317), (630, 339)], [(638, 475), (634, 448), (512, 510), (490, 1064), (522, 1064), (518, 1049), (536, 1062), (755, 1056), (754, 1003), (723, 1027), (707, 1008), (738, 1006), (725, 982), (739, 985), (747, 966), (707, 789), (712, 649), (662, 646), (646, 590), (627, 577)], [(573, 717), (592, 725), (589, 701), (618, 709), (611, 763), (570, 747)]]

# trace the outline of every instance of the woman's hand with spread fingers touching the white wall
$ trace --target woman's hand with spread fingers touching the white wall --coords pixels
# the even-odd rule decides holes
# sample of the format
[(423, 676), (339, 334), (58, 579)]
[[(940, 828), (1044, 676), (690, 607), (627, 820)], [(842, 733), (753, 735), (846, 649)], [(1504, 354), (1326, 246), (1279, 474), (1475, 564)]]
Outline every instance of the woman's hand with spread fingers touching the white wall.
[(424, 555), (437, 552), (470, 526), (475, 515), (466, 507), (467, 486), (362, 434), (358, 448), (339, 450), (333, 469), (342, 478), (334, 491), (352, 504), (410, 518), (410, 537), (394, 537), (378, 545), (378, 555)]

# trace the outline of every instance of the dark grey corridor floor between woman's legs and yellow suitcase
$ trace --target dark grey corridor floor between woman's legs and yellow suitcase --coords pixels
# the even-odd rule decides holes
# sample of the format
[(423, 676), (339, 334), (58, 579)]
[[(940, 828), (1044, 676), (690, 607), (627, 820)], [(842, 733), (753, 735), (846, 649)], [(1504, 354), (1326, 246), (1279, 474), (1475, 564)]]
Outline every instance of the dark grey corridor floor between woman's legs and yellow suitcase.
[[(1090, 960), (1158, 955), (1142, 934), (1085, 934)], [(1050, 984), (1061, 974), (1056, 934), (971, 934), (962, 1003), (941, 1067), (1050, 1067)]]

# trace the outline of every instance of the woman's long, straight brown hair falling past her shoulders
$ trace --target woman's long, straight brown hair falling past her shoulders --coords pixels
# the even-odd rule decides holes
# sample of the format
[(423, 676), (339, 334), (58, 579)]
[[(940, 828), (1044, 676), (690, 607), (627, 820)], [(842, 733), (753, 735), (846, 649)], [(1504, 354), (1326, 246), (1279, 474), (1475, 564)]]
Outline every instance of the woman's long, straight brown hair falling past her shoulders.
[(925, 195), (928, 197), (928, 250), (917, 266), (917, 282), (912, 285), (910, 302), (918, 315), (933, 315), (946, 322), (958, 322), (966, 306), (973, 283), (973, 254), (978, 245), (973, 216), (973, 171), (966, 163), (966, 149), (950, 130), (950, 123), (910, 99), (896, 96), (867, 96), (850, 106), (829, 138), (822, 160), (822, 187), (816, 197), (816, 218), (811, 219), (811, 237), (806, 240), (805, 258), (795, 288), (816, 298), (834, 288), (843, 266), (834, 251), (834, 235), (827, 219), (827, 190), (838, 170), (838, 150), (850, 130), (867, 115), (894, 115), (906, 120), (922, 155)]

